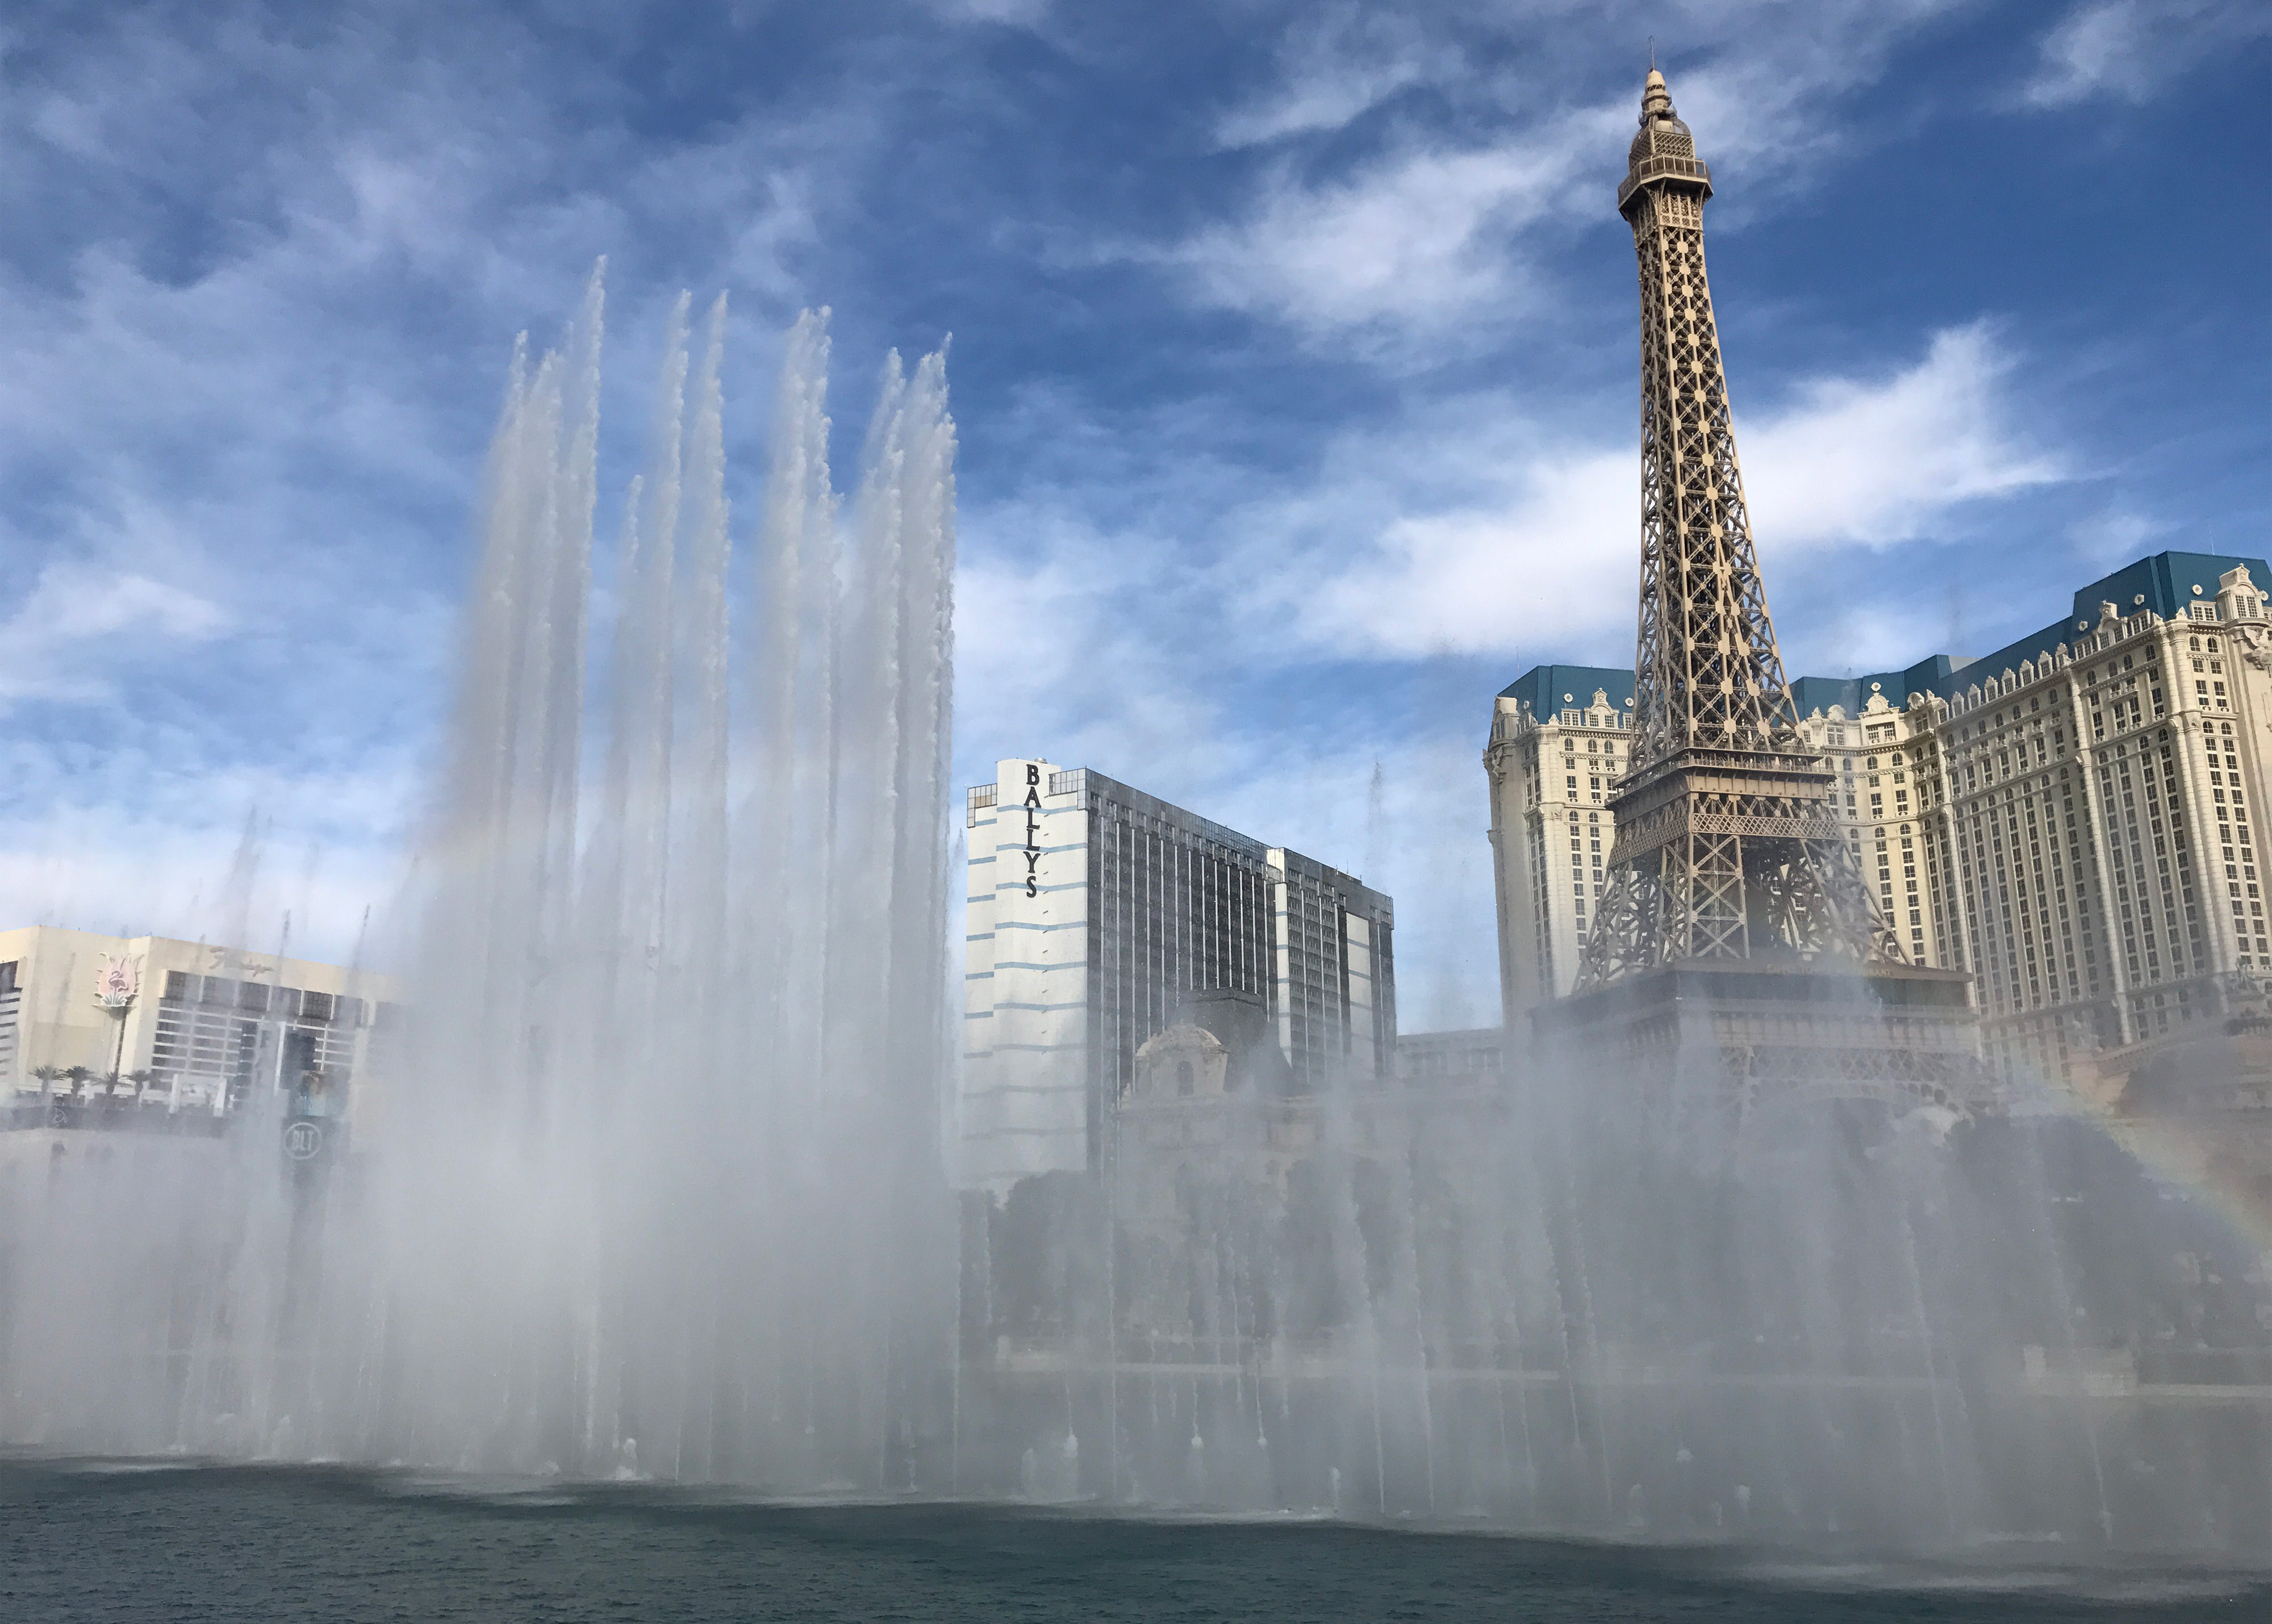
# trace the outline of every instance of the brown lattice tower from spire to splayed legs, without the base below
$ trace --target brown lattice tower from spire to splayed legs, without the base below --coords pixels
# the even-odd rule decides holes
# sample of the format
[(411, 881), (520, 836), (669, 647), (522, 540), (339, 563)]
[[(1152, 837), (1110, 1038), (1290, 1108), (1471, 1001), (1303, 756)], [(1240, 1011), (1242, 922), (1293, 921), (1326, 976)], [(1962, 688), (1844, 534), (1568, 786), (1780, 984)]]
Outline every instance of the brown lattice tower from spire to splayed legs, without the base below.
[(1797, 736), (1704, 279), (1706, 198), (1711, 170), (1652, 68), (1618, 186), (1640, 261), (1634, 750), (1579, 993), (1693, 959), (1904, 963)]

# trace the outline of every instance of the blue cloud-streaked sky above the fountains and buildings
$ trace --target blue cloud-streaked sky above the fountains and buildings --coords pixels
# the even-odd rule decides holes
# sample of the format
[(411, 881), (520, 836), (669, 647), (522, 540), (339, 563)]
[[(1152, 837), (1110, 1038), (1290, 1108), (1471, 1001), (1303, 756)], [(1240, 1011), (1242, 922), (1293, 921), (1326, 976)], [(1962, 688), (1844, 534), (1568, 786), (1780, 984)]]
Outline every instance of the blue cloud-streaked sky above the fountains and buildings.
[[(1363, 872), (1495, 1018), (1490, 695), (1627, 663), (1647, 39), (1713, 164), (1786, 659), (1981, 652), (2265, 547), (2272, 14), (1804, 5), (18, 5), (0, 23), (0, 915), (348, 952), (416, 836), (507, 348), (611, 263), (609, 488), (727, 288), (838, 463), (954, 334), (959, 777), (1088, 763)], [(602, 513), (611, 502), (602, 495)], [(1379, 793), (1368, 786), (1381, 770)]]

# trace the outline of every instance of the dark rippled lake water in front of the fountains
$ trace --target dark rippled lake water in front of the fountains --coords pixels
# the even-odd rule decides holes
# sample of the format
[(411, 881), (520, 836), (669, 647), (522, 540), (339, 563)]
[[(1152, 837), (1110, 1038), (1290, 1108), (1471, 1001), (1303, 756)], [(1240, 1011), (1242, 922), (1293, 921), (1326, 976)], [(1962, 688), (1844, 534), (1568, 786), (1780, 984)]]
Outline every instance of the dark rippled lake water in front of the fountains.
[(2272, 1619), (2272, 1576), (0, 1460), (0, 1619)]

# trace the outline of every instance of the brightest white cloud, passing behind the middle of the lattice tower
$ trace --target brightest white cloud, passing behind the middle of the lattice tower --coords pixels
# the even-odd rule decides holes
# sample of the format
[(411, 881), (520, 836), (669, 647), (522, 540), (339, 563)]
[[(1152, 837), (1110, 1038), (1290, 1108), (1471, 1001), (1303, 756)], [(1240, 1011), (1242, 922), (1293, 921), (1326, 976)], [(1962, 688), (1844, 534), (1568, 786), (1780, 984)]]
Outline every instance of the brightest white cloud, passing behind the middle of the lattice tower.
[[(1818, 379), (1784, 411), (1738, 422), (1763, 556), (1886, 547), (1965, 502), (2058, 479), (2058, 463), (2029, 450), (2008, 422), (2006, 370), (1986, 329), (1961, 327), (1936, 334), (1924, 359), (1893, 377)], [(1504, 402), (1461, 402), (1429, 434), (1493, 411), (1504, 413)], [(1304, 579), (1288, 606), (1313, 643), (1411, 659), (1509, 652), (1536, 638), (1547, 618), (1565, 645), (1629, 622), (1636, 447), (1568, 445), (1502, 420), (1436, 457), (1465, 463), (1472, 479), (1488, 479), (1475, 470), (1495, 461), (1509, 472), (1481, 500), (1388, 518), (1354, 561), (1322, 581)], [(1329, 495), (1320, 507), (1345, 504)], [(1347, 545), (1347, 531), (1313, 534), (1304, 545), (1311, 563), (1322, 563), (1329, 547)], [(1604, 572), (1618, 591), (1604, 591)]]

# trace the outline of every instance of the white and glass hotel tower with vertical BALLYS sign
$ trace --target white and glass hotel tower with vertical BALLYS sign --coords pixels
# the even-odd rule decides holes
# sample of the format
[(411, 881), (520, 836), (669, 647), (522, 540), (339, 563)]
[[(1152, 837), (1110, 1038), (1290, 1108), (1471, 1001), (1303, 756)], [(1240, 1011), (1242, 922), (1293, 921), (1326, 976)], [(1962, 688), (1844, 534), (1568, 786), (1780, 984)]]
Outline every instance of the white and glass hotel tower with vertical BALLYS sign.
[(1047, 761), (1002, 761), (968, 793), (966, 822), (966, 1188), (1093, 1170), (1138, 1045), (1193, 993), (1261, 999), (1295, 1090), (1390, 1074), (1381, 893)]

